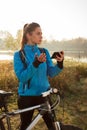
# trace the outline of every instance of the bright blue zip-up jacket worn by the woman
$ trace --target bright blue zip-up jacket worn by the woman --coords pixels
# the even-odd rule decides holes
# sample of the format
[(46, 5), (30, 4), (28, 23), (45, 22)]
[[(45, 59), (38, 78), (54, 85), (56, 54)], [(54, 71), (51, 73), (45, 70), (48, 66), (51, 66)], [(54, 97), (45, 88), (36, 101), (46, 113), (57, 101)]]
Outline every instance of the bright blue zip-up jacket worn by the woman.
[[(26, 69), (20, 59), (19, 51), (14, 53), (14, 71), (19, 80), (18, 93), (21, 96), (39, 96), (42, 92), (45, 92), (50, 88), (48, 76), (56, 76), (62, 69), (60, 69), (58, 65), (53, 65), (47, 49), (45, 49), (47, 61), (41, 63), (38, 68), (33, 65), (35, 55), (40, 55), (41, 53), (38, 46), (25, 44), (24, 51), (28, 64)], [(29, 79), (31, 80), (28, 87)], [(25, 88), (23, 88), (23, 84), (25, 84)]]

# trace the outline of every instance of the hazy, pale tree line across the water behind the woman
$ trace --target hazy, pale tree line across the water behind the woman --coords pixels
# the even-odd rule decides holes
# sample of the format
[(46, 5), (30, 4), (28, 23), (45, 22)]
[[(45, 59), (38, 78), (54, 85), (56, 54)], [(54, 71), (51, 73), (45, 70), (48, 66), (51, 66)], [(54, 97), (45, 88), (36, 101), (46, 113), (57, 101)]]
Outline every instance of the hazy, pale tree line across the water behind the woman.
[[(16, 37), (7, 31), (0, 31), (0, 50), (18, 50), (22, 38), (22, 30), (18, 30)], [(65, 50), (65, 51), (87, 51), (87, 39), (75, 38), (71, 40), (50, 40), (44, 39), (42, 47), (46, 47), (50, 51)]]

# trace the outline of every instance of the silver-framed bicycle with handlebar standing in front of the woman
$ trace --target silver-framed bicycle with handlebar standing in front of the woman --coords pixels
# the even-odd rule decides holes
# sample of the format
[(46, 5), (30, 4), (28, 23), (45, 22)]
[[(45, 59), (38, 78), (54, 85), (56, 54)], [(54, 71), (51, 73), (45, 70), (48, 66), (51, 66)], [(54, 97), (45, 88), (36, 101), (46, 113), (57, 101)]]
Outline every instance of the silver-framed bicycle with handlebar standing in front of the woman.
[[(49, 96), (51, 94), (55, 94), (57, 96), (56, 101), (55, 101), (54, 104), (50, 104), (50, 102), (48, 100)], [(57, 121), (57, 118), (56, 118), (56, 116), (54, 114), (54, 109), (60, 103), (60, 92), (57, 89), (52, 89), (51, 88), (50, 90), (42, 93), (42, 97), (45, 100), (44, 104), (40, 104), (40, 105), (37, 105), (37, 106), (22, 109), (22, 110), (16, 110), (14, 112), (6, 111), (2, 115), (2, 117), (0, 117), (0, 130), (5, 130), (4, 123), (2, 121), (3, 118), (6, 118), (7, 125), (8, 125), (8, 130), (11, 130), (11, 123), (10, 123), (10, 117), (11, 116), (15, 116), (17, 114), (27, 112), (27, 111), (30, 111), (30, 110), (34, 110), (34, 109), (38, 109), (39, 113), (35, 116), (35, 118), (32, 120), (31, 124), (29, 124), (29, 126), (27, 127), (26, 130), (32, 130), (32, 128), (38, 123), (38, 121), (43, 117), (43, 115), (47, 111), (49, 112), (49, 115), (50, 115), (50, 117), (52, 119), (54, 130), (81, 130), (80, 128), (77, 128), (77, 127), (74, 127), (74, 126), (71, 126), (71, 125), (63, 125), (62, 123)]]

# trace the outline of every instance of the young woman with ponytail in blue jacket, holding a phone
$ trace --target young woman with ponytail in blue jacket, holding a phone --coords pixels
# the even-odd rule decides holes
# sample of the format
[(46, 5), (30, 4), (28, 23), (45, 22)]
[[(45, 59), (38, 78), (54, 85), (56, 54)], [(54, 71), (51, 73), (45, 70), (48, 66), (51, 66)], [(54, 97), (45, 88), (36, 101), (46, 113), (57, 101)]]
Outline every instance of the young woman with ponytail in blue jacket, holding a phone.
[[(21, 50), (26, 55), (27, 67), (21, 61), (19, 51), (14, 54), (14, 70), (19, 80), (18, 107), (24, 109), (44, 103), (41, 93), (50, 88), (48, 76), (58, 75), (63, 69), (64, 53), (60, 57), (56, 55), (57, 64), (53, 65), (47, 49), (41, 52), (38, 45), (42, 41), (42, 31), (38, 23), (30, 23), (24, 26)], [(29, 81), (29, 82), (28, 82)], [(31, 123), (34, 111), (21, 114), (21, 128), (25, 130)], [(53, 130), (49, 114), (43, 117), (49, 130)]]

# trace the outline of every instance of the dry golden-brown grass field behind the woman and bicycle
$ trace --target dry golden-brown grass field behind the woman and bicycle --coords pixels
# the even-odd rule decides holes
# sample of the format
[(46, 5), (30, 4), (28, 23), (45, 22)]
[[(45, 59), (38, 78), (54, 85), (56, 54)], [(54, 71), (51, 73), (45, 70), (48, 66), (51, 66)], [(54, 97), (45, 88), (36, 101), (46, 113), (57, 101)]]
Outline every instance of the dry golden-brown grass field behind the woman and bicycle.
[[(59, 121), (65, 124), (74, 124), (87, 130), (87, 63), (65, 61), (63, 72), (54, 78), (49, 78), (52, 87), (59, 88), (64, 93), (64, 117), (63, 101), (56, 109)], [(0, 61), (0, 89), (14, 92), (9, 103), (9, 110), (17, 109), (18, 81), (13, 71), (12, 61)], [(36, 112), (35, 112), (36, 113)], [(19, 116), (11, 118), (13, 130), (19, 124)], [(35, 130), (46, 130), (41, 120)]]

